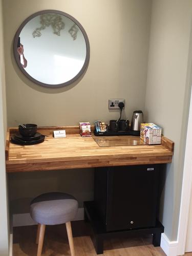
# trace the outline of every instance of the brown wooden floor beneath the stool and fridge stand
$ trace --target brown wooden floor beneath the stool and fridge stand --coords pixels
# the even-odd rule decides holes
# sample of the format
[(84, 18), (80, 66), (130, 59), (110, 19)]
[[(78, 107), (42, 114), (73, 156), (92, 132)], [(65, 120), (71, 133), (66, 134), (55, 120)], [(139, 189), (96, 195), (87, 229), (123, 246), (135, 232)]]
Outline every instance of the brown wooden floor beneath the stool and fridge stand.
[[(13, 229), (13, 256), (35, 256), (37, 226), (15, 227)], [(96, 256), (90, 238), (89, 224), (83, 221), (72, 223), (76, 256)], [(70, 256), (65, 225), (47, 226), (42, 256)], [(104, 242), (101, 256), (165, 256), (160, 247), (152, 245), (152, 236), (129, 239), (111, 239)], [(187, 255), (190, 256), (190, 255)]]

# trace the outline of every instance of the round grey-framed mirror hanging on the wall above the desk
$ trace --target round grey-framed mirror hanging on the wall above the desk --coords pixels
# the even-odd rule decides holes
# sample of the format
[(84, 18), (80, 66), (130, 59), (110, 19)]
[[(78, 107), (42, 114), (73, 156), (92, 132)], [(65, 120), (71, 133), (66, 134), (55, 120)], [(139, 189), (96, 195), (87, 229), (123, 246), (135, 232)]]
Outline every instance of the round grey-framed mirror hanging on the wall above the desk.
[(71, 15), (45, 10), (29, 16), (14, 39), (20, 70), (41, 86), (58, 88), (86, 71), (90, 45), (86, 31)]

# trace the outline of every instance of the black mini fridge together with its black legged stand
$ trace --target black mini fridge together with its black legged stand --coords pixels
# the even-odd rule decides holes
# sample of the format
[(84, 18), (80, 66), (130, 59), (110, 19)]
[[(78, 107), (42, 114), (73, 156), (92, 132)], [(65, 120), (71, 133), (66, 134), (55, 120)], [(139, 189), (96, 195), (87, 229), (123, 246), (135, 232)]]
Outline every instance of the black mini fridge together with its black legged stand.
[(97, 254), (103, 240), (153, 233), (160, 246), (164, 227), (157, 220), (161, 164), (95, 168), (94, 201), (84, 202), (84, 218), (93, 226)]

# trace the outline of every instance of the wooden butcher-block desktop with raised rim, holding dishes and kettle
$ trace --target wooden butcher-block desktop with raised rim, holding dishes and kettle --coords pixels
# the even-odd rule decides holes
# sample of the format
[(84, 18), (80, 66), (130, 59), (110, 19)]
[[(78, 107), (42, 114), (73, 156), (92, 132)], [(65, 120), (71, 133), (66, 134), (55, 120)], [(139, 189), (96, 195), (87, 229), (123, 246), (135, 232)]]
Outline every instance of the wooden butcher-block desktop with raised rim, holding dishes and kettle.
[[(67, 137), (53, 138), (53, 130), (66, 130)], [(39, 127), (38, 132), (49, 137), (40, 144), (22, 146), (10, 143), (16, 131), (10, 128), (7, 132), (6, 167), (9, 173), (170, 163), (174, 151), (174, 142), (165, 137), (161, 145), (99, 147), (93, 138), (82, 138), (78, 126)]]

